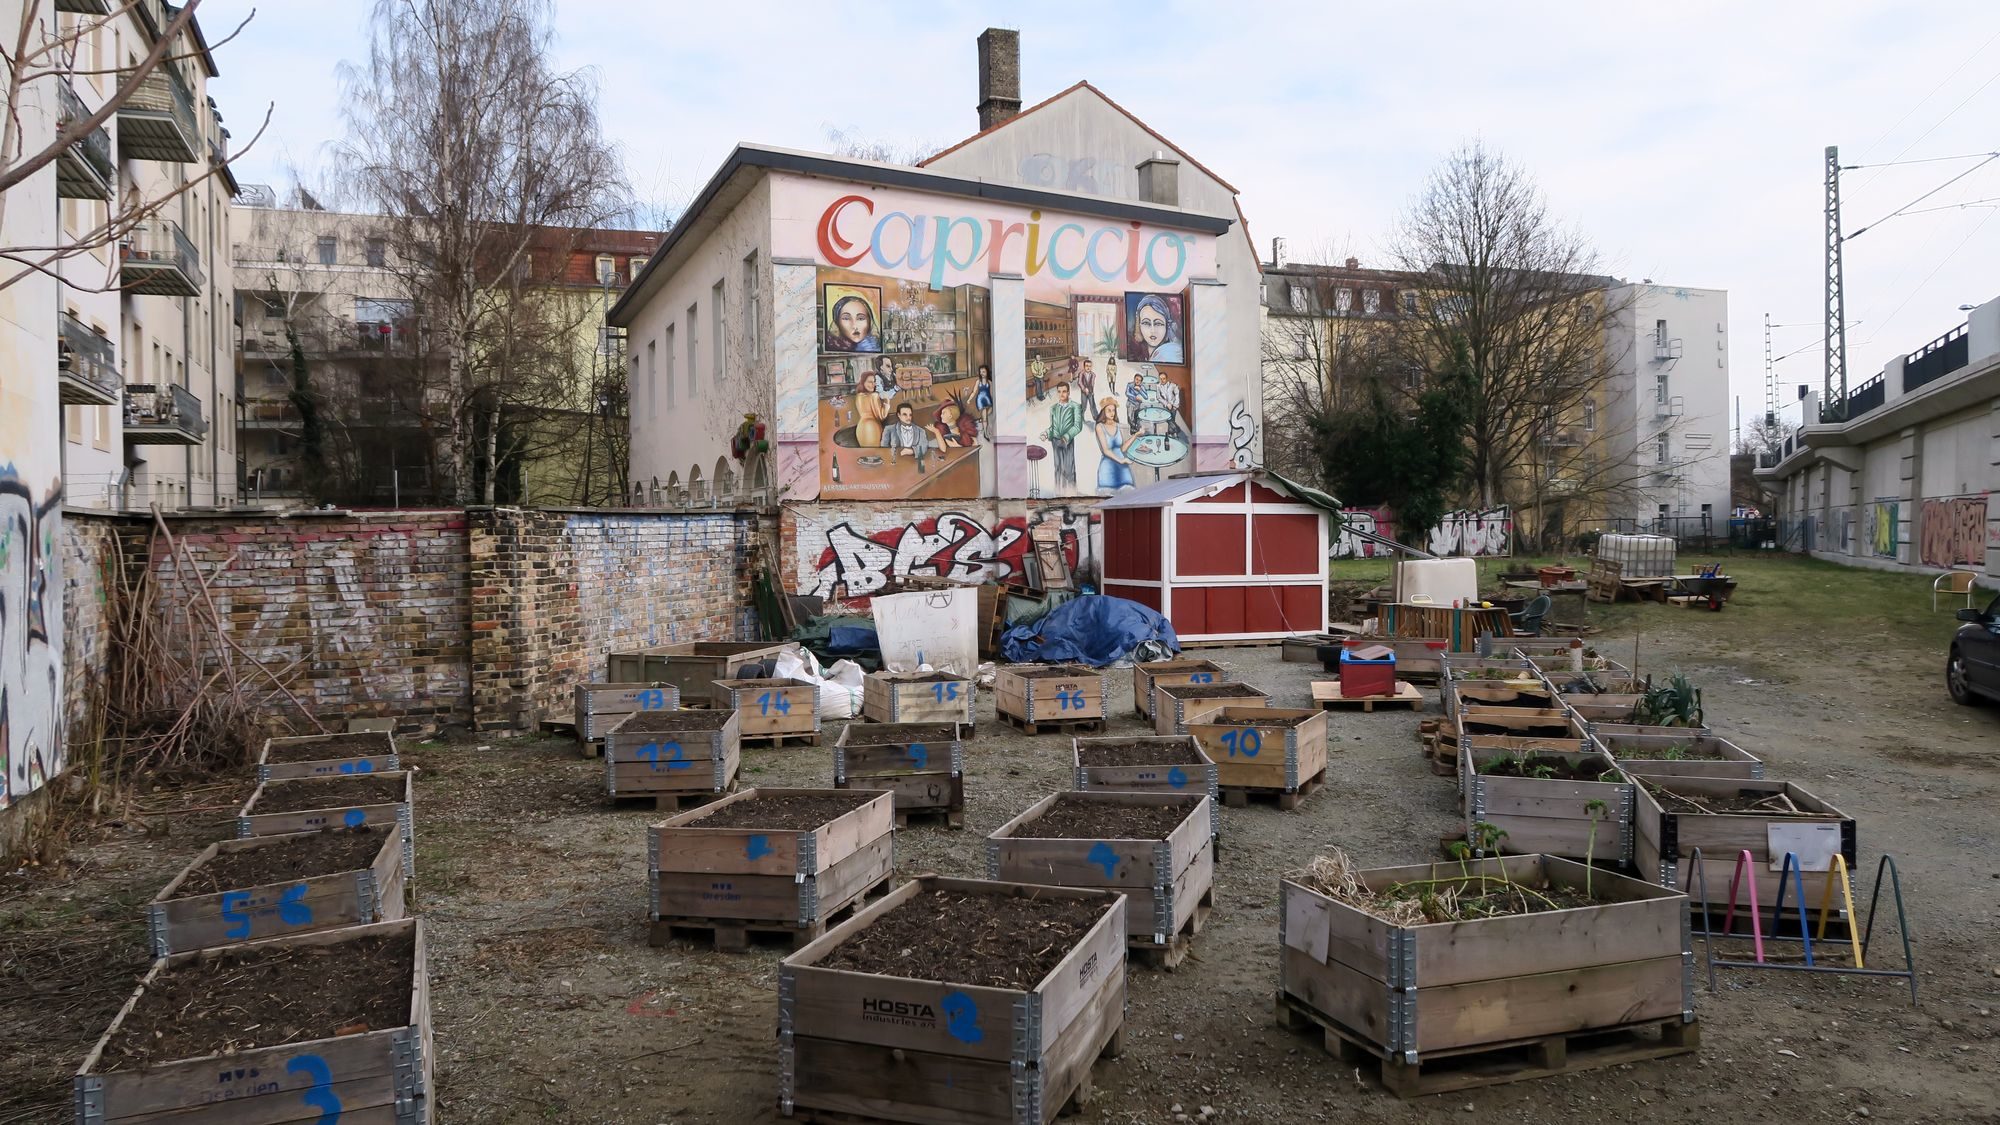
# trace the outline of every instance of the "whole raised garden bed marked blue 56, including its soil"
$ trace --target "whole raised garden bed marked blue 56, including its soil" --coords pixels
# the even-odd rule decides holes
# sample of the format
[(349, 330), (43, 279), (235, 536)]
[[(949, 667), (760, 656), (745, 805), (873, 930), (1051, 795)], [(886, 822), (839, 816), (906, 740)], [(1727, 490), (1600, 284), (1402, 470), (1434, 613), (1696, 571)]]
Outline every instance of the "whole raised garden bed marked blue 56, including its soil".
[(154, 957), (396, 921), (402, 841), (390, 825), (218, 841), (146, 905)]

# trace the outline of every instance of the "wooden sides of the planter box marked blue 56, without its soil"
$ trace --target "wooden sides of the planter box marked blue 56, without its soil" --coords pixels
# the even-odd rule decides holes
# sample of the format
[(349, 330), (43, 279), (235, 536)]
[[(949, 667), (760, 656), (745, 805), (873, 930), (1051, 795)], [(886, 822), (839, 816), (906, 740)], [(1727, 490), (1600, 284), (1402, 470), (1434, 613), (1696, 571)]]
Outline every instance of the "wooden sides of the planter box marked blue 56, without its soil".
[(404, 917), (402, 841), (396, 829), (360, 829), (380, 837), (374, 861), (352, 871), (328, 871), (284, 883), (230, 887), (208, 895), (182, 895), (180, 885), (216, 859), (244, 851), (288, 847), (312, 833), (216, 841), (174, 875), (146, 905), (146, 941), (154, 957), (312, 933)]

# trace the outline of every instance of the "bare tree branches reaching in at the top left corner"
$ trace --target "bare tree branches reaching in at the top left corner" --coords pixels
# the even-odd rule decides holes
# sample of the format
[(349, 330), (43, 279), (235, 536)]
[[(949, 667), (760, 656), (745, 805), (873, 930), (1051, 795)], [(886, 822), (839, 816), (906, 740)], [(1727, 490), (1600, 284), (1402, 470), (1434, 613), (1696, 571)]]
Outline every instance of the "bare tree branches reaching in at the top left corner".
[[(14, 28), (12, 38), (6, 38), (4, 32), (0, 32), (0, 66), (6, 68), (6, 118), (0, 120), (0, 218), (6, 216), (6, 192), (42, 168), (48, 168), (70, 146), (102, 128), (120, 106), (138, 94), (150, 74), (166, 64), (194, 58), (194, 54), (176, 54), (174, 46), (194, 24), (194, 10), (200, 8), (202, 0), (188, 0), (178, 10), (168, 8), (172, 16), (166, 20), (166, 26), (160, 28), (160, 36), (152, 42), (152, 50), (148, 50), (138, 64), (116, 70), (78, 68), (82, 44), (100, 28), (108, 28), (124, 20), (140, 4), (144, 4), (144, 0), (126, 0), (122, 4), (114, 4), (110, 12), (102, 16), (78, 14), (72, 20), (60, 20), (60, 4), (54, 0), (24, 0), (20, 8), (20, 26)], [(246, 18), (234, 32), (210, 44), (208, 50), (214, 50), (242, 34), (248, 22), (250, 20)], [(74, 78), (94, 74), (118, 76), (118, 86), (108, 98), (104, 98), (104, 104), (100, 104), (94, 112), (76, 110), (58, 114), (60, 124), (56, 126), (56, 138), (40, 150), (28, 152), (28, 128), (22, 120), (28, 90), (40, 92), (42, 104), (60, 104), (60, 98), (70, 92), (70, 82)], [(0, 246), (0, 260), (20, 266), (14, 270), (0, 270), (0, 288), (8, 288), (32, 274), (46, 274), (70, 288), (86, 292), (118, 288), (116, 262), (110, 266), (104, 282), (94, 286), (82, 284), (80, 278), (62, 276), (56, 270), (56, 264), (130, 238), (140, 224), (164, 210), (166, 204), (174, 202), (248, 152), (250, 146), (264, 136), (264, 128), (268, 126), (270, 108), (264, 110), (264, 124), (258, 126), (256, 136), (252, 136), (242, 148), (226, 154), (224, 160), (212, 164), (200, 176), (192, 176), (156, 198), (130, 198), (122, 204), (106, 206), (104, 222), (98, 222), (90, 230), (76, 236), (56, 238), (46, 246)]]

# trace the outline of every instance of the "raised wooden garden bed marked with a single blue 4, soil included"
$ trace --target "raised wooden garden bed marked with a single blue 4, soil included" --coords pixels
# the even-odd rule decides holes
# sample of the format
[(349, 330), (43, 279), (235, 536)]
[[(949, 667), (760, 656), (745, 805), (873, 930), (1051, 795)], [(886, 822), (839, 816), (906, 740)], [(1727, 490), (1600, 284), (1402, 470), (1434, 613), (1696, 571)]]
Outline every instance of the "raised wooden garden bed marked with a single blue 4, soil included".
[(1126, 897), (1134, 949), (1172, 969), (1214, 905), (1216, 805), (1178, 793), (1056, 793), (986, 837), (986, 875)]

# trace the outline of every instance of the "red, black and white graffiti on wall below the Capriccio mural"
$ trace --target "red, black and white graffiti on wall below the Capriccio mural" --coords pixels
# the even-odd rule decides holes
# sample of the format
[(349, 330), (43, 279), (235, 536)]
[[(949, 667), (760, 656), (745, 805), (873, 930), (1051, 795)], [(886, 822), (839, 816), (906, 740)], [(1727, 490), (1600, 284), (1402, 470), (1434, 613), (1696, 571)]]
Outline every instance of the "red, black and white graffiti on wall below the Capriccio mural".
[(1010, 516), (988, 522), (968, 512), (940, 512), (874, 528), (856, 526), (852, 518), (824, 530), (800, 526), (800, 550), (816, 548), (800, 593), (856, 601), (912, 575), (954, 583), (1004, 581), (1026, 571), (1034, 548), (1030, 526), (1050, 520), (1058, 524), (1064, 560), (1076, 571), (1090, 552), (1090, 516), (1068, 508), (1042, 508), (1032, 520)]

